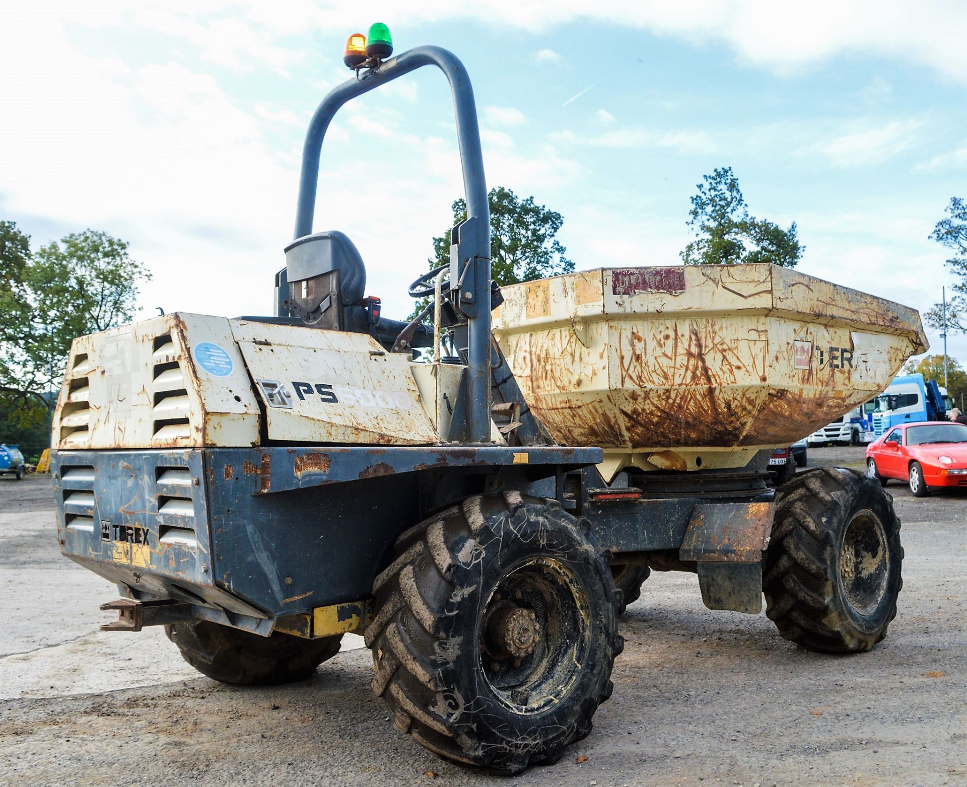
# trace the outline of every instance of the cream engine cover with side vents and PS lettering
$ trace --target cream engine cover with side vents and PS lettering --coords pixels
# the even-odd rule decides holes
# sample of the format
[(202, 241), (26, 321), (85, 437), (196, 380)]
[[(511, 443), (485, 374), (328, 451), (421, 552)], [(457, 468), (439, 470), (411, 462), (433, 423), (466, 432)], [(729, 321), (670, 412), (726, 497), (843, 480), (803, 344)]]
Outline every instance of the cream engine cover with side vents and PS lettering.
[[(449, 434), (462, 368), (413, 364), (365, 334), (167, 314), (74, 339), (52, 445), (247, 447), (263, 433), (276, 443), (436, 444)], [(270, 403), (259, 380), (277, 381), (290, 405)]]

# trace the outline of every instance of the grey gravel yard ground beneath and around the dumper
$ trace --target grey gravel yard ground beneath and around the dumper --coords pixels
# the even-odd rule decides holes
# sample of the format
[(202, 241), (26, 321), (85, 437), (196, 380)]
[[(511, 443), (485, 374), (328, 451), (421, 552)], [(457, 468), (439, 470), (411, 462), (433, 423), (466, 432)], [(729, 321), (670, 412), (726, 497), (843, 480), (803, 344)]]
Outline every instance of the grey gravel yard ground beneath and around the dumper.
[[(863, 461), (809, 451), (809, 466)], [(706, 609), (693, 575), (653, 574), (594, 732), (502, 779), (397, 734), (358, 637), (307, 682), (239, 688), (198, 676), (158, 629), (98, 631), (116, 594), (57, 552), (49, 481), (0, 480), (0, 783), (967, 784), (967, 495), (888, 490), (904, 588), (872, 653), (806, 653), (764, 615)]]

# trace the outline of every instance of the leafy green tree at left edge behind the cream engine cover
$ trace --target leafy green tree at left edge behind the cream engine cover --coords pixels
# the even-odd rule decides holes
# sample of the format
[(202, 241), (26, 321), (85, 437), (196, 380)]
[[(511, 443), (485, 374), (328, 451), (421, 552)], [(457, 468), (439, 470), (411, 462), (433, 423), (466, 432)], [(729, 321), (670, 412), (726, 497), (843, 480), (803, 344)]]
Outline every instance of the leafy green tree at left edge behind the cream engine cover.
[(151, 275), (128, 244), (104, 232), (68, 235), (31, 253), (13, 222), (0, 222), (0, 392), (26, 407), (56, 390), (75, 336), (131, 320), (139, 281)]

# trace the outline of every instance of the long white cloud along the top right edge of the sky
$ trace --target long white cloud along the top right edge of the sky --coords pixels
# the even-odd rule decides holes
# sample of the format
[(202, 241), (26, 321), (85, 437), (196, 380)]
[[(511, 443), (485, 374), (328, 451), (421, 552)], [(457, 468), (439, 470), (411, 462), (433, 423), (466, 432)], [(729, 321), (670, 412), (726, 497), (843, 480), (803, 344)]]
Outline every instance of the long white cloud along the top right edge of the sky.
[[(386, 2), (386, 0), (384, 0)], [(377, 7), (380, 5), (376, 3)], [(387, 3), (387, 6), (392, 4)], [(425, 0), (423, 14), (439, 15)], [(967, 82), (967, 4), (959, 0), (813, 0), (804, 4), (762, 0), (637, 0), (588, 4), (586, 0), (460, 0), (453, 16), (474, 16), (490, 24), (542, 30), (570, 22), (597, 21), (637, 27), (696, 44), (722, 43), (749, 65), (778, 73), (799, 71), (844, 54), (895, 58)]]

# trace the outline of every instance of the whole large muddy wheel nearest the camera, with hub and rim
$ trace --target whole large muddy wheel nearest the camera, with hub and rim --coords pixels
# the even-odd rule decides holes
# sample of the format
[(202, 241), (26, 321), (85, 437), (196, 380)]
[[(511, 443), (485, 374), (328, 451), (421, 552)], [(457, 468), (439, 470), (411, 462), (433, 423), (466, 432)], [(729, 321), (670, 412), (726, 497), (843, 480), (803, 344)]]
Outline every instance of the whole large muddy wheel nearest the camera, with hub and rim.
[(499, 773), (555, 762), (590, 733), (622, 640), (620, 596), (585, 523), (507, 492), (397, 539), (366, 629), (396, 729)]

